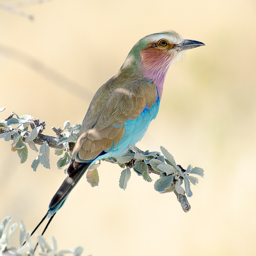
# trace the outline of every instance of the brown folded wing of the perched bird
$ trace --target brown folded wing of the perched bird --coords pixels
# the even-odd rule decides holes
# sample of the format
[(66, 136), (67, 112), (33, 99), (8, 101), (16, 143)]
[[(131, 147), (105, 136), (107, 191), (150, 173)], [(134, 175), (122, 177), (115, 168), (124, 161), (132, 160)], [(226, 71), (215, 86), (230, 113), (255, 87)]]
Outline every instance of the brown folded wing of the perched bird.
[(84, 117), (73, 159), (94, 160), (121, 140), (127, 120), (134, 120), (147, 108), (151, 109), (158, 94), (155, 84), (147, 80), (130, 82), (112, 78), (97, 91)]

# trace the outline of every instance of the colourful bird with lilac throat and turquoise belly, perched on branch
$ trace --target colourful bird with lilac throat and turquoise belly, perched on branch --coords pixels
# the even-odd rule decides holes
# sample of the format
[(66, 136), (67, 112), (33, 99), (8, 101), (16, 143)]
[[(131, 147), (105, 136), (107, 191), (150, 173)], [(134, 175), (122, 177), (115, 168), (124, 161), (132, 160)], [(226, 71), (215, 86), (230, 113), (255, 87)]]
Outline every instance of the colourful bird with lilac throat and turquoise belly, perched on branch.
[(126, 57), (118, 73), (94, 95), (75, 143), (67, 178), (52, 198), (42, 232), (63, 206), (71, 190), (96, 161), (121, 157), (135, 147), (156, 118), (168, 68), (182, 59), (186, 50), (204, 46), (183, 39), (169, 30), (140, 39)]

